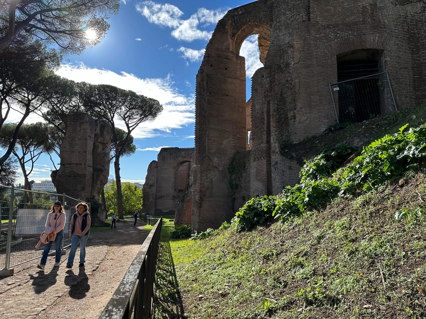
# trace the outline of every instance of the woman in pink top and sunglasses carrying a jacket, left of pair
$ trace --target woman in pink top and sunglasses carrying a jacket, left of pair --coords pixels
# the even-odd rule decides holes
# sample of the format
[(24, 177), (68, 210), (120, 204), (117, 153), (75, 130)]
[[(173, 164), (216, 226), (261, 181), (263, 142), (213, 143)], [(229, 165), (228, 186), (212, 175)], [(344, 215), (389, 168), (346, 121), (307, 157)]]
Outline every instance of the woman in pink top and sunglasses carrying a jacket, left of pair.
[[(60, 256), (62, 253), (62, 239), (63, 239), (63, 227), (65, 226), (65, 212), (62, 209), (62, 203), (60, 201), (55, 201), (50, 212), (47, 214), (46, 219), (46, 230), (40, 236), (42, 237), (45, 243), (43, 254), (41, 255), (40, 263), (37, 265), (38, 269), (44, 269), (47, 261), (47, 255), (49, 254), (50, 247), (52, 243), (55, 242), (55, 265), (54, 267), (59, 266)], [(36, 248), (39, 247), (41, 242), (39, 242)]]

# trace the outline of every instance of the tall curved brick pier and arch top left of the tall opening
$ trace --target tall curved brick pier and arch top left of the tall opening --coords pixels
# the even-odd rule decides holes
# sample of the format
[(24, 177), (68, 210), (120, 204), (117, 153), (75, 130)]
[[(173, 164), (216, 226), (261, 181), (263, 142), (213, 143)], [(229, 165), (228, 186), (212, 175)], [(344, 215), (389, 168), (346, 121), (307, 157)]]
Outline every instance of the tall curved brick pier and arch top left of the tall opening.
[(235, 214), (229, 186), (229, 163), (248, 147), (243, 41), (258, 34), (265, 63), (270, 41), (271, 3), (256, 1), (228, 11), (218, 22), (196, 78), (195, 168), (192, 226), (206, 230)]

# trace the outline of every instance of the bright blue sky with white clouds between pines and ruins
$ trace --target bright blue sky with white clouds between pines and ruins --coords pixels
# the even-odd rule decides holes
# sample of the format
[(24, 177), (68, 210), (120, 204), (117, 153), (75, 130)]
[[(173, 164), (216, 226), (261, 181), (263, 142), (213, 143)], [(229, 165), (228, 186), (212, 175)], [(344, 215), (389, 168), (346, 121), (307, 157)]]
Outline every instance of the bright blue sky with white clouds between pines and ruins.
[[(120, 160), (122, 181), (143, 183), (149, 163), (157, 159), (163, 147), (194, 147), (195, 76), (204, 48), (228, 9), (249, 2), (122, 1), (119, 12), (108, 19), (110, 29), (100, 44), (63, 59), (57, 71), (63, 77), (133, 90), (163, 105), (155, 121), (140, 125), (132, 133), (136, 153)], [(246, 57), (250, 87), (250, 77), (262, 66), (257, 36), (245, 41), (240, 55)], [(31, 116), (31, 121), (39, 119)], [(50, 179), (52, 169), (47, 157), (40, 158), (29, 179)], [(114, 178), (112, 166), (110, 178)], [(22, 180), (20, 177), (17, 182)]]

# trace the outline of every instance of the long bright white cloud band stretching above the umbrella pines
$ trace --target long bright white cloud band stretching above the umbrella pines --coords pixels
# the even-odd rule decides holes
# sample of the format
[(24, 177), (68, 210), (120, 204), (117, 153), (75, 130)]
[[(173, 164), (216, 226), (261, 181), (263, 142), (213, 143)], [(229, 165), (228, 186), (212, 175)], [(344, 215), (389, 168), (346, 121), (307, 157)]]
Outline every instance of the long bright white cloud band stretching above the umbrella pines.
[[(171, 130), (185, 127), (195, 120), (194, 97), (177, 93), (173, 88), (170, 75), (164, 79), (140, 79), (126, 72), (117, 74), (109, 70), (88, 68), (83, 64), (78, 66), (64, 64), (56, 73), (76, 82), (114, 85), (158, 100), (163, 106), (163, 111), (154, 121), (139, 125), (132, 132), (135, 139), (157, 136), (158, 130), (169, 133)], [(118, 123), (117, 126), (125, 129), (122, 123)]]

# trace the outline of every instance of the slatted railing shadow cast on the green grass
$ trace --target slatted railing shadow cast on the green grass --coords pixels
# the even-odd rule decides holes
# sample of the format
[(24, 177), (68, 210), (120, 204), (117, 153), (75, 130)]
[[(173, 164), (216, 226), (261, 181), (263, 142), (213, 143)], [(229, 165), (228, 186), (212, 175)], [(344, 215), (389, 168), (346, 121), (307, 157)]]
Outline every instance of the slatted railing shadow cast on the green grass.
[(183, 317), (183, 303), (169, 241), (161, 241), (158, 249), (154, 283), (152, 319)]

